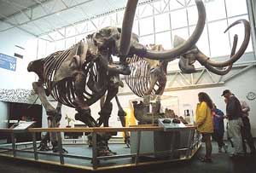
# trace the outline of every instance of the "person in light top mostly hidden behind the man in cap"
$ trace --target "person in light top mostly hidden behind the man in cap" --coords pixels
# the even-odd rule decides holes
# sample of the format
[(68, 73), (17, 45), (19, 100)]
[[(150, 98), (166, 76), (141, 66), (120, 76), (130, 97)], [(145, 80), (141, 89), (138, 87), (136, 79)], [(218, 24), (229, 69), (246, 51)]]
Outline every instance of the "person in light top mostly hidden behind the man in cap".
[(246, 145), (246, 141), (247, 141), (247, 144), (251, 150), (251, 154), (255, 156), (256, 149), (254, 147), (253, 136), (251, 133), (250, 120), (248, 118), (250, 107), (247, 105), (246, 101), (240, 101), (240, 104), (241, 104), (241, 112), (242, 112), (241, 120), (243, 123), (243, 127), (241, 129), (242, 147), (244, 152), (247, 153), (247, 145)]

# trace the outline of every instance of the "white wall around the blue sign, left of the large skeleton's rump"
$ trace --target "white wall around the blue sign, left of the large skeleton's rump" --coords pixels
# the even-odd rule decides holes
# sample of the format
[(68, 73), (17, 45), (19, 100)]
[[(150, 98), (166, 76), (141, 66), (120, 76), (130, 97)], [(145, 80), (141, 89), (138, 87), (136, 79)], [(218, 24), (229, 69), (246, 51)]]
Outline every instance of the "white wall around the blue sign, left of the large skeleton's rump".
[[(32, 89), (35, 74), (27, 72), (26, 66), (37, 58), (37, 44), (37, 37), (18, 29), (0, 32), (0, 53), (14, 56), (15, 45), (25, 48), (23, 59), (16, 58), (15, 72), (0, 68), (0, 89)], [(8, 110), (8, 104), (0, 101), (0, 128), (6, 127), (2, 120), (8, 119)]]

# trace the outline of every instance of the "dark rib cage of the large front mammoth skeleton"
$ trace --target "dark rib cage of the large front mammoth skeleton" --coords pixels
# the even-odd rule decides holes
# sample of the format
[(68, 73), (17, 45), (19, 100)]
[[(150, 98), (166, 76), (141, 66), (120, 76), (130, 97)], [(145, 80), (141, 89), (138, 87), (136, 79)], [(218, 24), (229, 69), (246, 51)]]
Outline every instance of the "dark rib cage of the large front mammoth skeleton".
[[(87, 42), (88, 43), (88, 42)], [(89, 43), (90, 44), (90, 43)], [(54, 77), (63, 61), (68, 57), (76, 54), (76, 50), (79, 47), (79, 43), (73, 47), (57, 51), (44, 59), (44, 84), (49, 94), (52, 95), (56, 101), (61, 102), (67, 107), (76, 107), (75, 99), (78, 97), (76, 93), (74, 78), (63, 78), (61, 81), (54, 83)], [(90, 57), (87, 57), (90, 56)], [(106, 80), (100, 81), (103, 78), (102, 72), (99, 72), (101, 66), (92, 55), (87, 54), (86, 61), (83, 63), (82, 72), (84, 72), (84, 91), (83, 98), (88, 106), (96, 102), (106, 91), (105, 88), (101, 88), (100, 91), (93, 89), (92, 83), (96, 86), (105, 86), (102, 83)], [(106, 78), (106, 77), (105, 77)], [(100, 87), (98, 87), (100, 88)]]

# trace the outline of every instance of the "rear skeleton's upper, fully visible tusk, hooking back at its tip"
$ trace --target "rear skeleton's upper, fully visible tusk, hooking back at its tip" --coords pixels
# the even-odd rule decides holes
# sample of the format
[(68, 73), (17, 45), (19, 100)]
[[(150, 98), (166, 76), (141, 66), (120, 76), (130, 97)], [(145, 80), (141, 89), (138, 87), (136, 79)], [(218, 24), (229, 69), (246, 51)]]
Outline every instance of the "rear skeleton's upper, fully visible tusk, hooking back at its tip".
[(242, 23), (245, 28), (244, 39), (243, 39), (243, 42), (241, 43), (240, 49), (238, 49), (235, 55), (231, 55), (230, 60), (224, 61), (224, 62), (215, 62), (215, 61), (211, 61), (210, 58), (207, 57), (206, 55), (199, 56), (197, 60), (201, 61), (202, 64), (208, 64), (210, 66), (215, 66), (215, 67), (230, 66), (234, 62), (239, 60), (241, 55), (243, 55), (243, 53), (247, 49), (247, 45), (250, 41), (250, 24), (247, 20), (237, 20), (225, 30), (225, 32), (227, 32), (232, 26), (236, 26), (239, 23)]

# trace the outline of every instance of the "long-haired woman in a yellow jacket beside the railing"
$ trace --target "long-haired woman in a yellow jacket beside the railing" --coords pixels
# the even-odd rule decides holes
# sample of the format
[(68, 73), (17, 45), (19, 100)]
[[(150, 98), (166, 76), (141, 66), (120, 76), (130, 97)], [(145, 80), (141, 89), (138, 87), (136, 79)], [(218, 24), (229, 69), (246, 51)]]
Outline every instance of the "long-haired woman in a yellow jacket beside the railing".
[(209, 95), (204, 92), (198, 94), (198, 100), (199, 103), (196, 107), (195, 124), (197, 130), (202, 134), (202, 140), (206, 143), (206, 155), (199, 159), (201, 159), (202, 162), (212, 162), (212, 100)]

